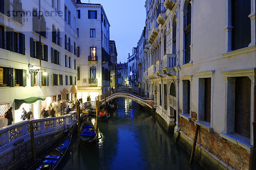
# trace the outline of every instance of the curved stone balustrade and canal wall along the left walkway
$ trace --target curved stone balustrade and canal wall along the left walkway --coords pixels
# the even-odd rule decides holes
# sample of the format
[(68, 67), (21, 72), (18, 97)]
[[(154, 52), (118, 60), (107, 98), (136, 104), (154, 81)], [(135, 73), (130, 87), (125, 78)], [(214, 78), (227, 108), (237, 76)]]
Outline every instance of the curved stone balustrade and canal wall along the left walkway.
[[(76, 127), (76, 112), (32, 120), (37, 158)], [(0, 170), (18, 170), (32, 163), (29, 120), (0, 129)], [(26, 168), (25, 168), (26, 169)]]

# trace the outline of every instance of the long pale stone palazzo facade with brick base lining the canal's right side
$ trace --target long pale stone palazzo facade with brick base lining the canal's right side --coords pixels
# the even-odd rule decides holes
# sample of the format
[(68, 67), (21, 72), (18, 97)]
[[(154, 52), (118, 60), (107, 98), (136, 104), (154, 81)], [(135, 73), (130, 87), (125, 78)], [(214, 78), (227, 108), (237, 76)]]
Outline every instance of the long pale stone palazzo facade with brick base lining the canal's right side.
[(156, 117), (188, 151), (200, 127), (195, 157), (202, 166), (248, 169), (255, 0), (146, 0), (145, 8), (143, 79)]

